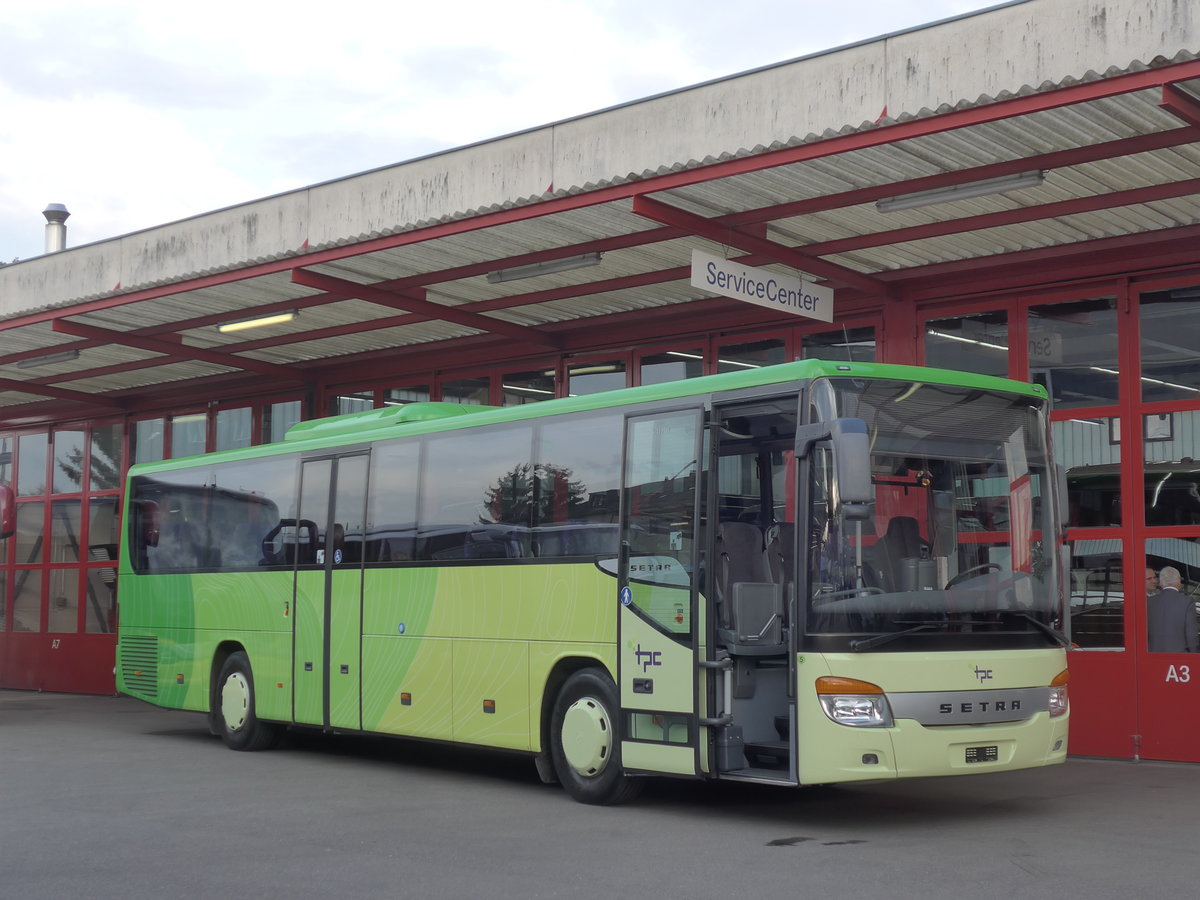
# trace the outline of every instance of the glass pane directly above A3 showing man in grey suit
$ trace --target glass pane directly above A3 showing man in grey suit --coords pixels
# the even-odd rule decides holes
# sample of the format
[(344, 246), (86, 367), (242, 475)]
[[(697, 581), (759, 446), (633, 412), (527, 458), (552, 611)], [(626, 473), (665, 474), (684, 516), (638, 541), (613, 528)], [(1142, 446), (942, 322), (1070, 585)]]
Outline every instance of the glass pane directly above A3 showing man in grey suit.
[(1146, 642), (1151, 653), (1200, 653), (1198, 539), (1146, 541)]

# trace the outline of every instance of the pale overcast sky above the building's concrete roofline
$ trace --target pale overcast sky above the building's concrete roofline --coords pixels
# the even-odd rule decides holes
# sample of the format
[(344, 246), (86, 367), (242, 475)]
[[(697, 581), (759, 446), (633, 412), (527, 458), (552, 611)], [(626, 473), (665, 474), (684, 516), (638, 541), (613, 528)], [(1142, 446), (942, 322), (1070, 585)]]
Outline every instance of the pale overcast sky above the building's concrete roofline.
[(26, 0), (0, 260), (43, 252), (48, 203), (78, 246), (992, 5)]

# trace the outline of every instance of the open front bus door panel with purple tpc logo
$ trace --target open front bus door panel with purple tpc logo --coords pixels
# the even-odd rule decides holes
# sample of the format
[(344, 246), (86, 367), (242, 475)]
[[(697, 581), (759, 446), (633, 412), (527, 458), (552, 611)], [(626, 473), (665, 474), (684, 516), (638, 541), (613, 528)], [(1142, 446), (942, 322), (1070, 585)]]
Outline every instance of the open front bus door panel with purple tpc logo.
[(702, 449), (701, 409), (626, 419), (617, 643), (622, 762), (635, 772), (695, 775), (707, 751), (696, 655)]

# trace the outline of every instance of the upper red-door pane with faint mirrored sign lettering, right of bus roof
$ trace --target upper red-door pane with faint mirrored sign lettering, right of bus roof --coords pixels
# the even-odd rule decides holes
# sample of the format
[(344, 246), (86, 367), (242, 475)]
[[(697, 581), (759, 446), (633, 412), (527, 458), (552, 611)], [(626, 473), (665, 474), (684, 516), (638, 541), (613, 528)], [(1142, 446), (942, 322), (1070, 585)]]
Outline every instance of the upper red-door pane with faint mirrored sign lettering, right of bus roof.
[(1056, 409), (1117, 402), (1117, 310), (1111, 296), (1030, 307), (1030, 380)]

